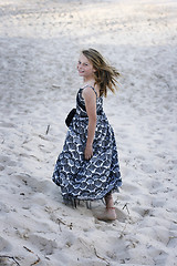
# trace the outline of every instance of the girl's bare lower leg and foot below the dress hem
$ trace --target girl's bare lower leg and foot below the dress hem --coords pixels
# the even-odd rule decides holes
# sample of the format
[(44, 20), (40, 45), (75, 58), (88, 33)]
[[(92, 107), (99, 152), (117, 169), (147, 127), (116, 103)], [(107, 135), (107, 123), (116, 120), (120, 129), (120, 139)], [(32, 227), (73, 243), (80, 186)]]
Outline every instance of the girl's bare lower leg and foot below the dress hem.
[(115, 213), (113, 196), (112, 196), (111, 193), (108, 193), (105, 196), (105, 202), (106, 202), (106, 209), (97, 218), (101, 219), (101, 221), (114, 221), (114, 219), (116, 219), (116, 213)]

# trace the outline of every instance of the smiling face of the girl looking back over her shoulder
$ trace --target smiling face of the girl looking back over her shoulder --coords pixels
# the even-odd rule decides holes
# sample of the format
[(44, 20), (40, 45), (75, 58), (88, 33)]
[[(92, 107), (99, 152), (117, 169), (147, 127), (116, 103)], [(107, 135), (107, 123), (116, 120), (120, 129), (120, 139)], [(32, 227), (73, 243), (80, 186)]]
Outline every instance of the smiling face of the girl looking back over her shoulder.
[(79, 75), (83, 76), (84, 80), (90, 80), (94, 78), (95, 70), (93, 68), (93, 64), (83, 53), (81, 53), (79, 58), (77, 71)]

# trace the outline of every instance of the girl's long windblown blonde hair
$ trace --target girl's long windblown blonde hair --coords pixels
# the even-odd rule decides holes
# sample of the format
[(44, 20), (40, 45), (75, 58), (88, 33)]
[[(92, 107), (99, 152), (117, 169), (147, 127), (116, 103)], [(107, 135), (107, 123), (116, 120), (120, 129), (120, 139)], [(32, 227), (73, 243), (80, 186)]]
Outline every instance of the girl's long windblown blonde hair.
[(116, 78), (119, 76), (119, 72), (112, 65), (110, 65), (106, 60), (102, 57), (100, 52), (90, 48), (83, 50), (82, 53), (87, 58), (87, 60), (93, 64), (96, 70), (94, 72), (95, 84), (100, 86), (100, 94), (106, 96), (107, 88), (115, 92)]

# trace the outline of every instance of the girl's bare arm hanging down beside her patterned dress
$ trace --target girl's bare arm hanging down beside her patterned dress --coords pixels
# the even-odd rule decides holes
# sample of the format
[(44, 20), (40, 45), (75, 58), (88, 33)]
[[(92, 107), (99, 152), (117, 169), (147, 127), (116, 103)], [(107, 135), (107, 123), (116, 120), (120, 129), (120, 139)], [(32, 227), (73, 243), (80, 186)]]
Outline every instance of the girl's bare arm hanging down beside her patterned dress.
[(91, 88), (83, 90), (83, 98), (85, 100), (86, 113), (88, 116), (87, 140), (85, 146), (85, 158), (90, 160), (93, 156), (93, 141), (96, 129), (96, 95)]

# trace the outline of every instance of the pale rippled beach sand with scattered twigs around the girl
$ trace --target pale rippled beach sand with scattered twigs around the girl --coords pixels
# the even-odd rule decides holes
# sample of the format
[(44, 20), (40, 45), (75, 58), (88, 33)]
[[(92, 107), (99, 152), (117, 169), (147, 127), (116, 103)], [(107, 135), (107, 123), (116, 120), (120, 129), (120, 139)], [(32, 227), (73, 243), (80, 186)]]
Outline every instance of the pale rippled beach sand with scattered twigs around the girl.
[[(177, 2), (0, 1), (0, 265), (177, 265)], [(52, 181), (76, 63), (95, 48), (122, 76), (104, 110), (123, 186), (117, 219), (65, 206)]]

